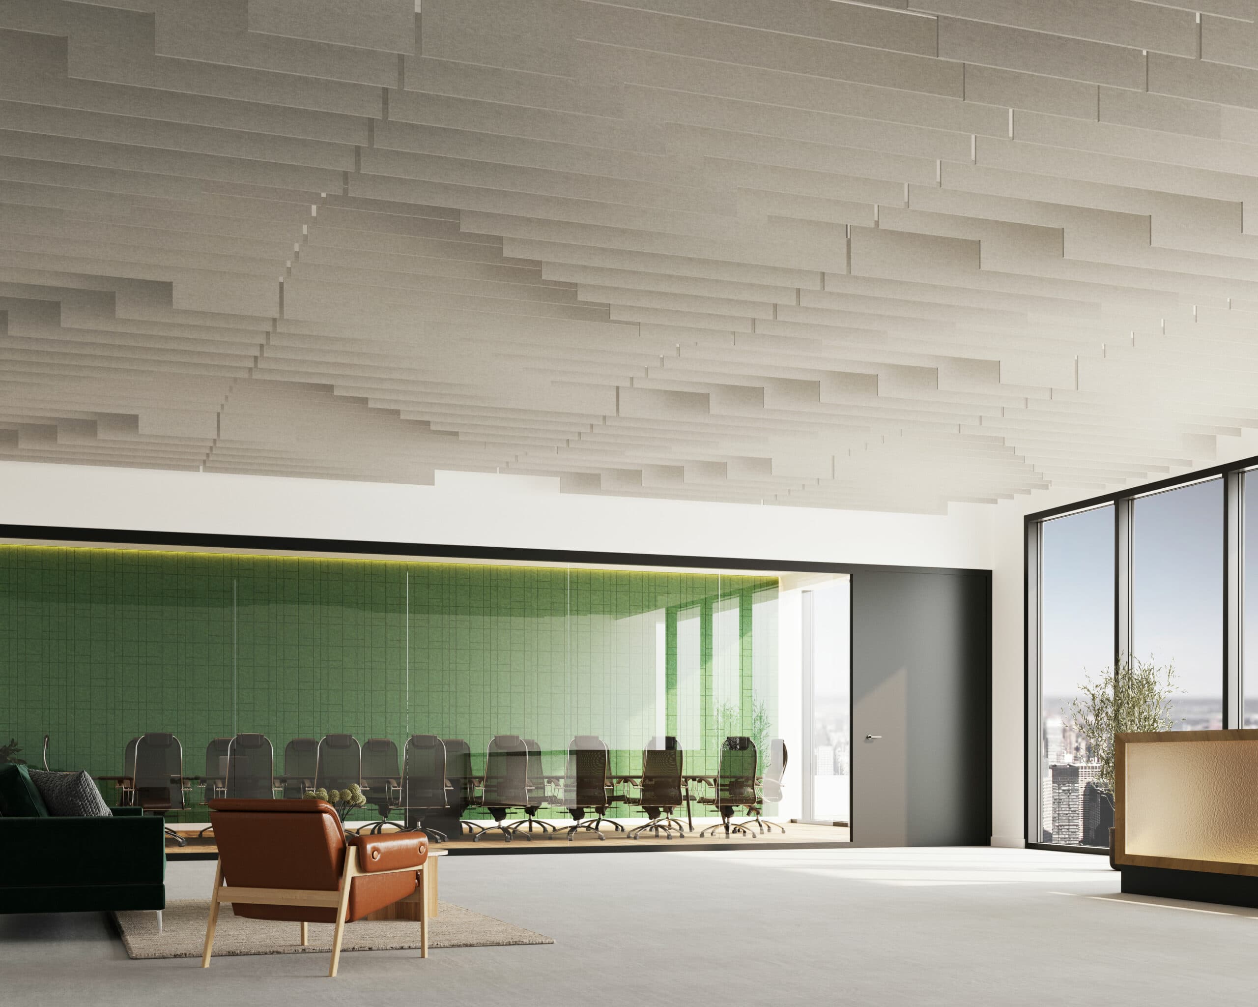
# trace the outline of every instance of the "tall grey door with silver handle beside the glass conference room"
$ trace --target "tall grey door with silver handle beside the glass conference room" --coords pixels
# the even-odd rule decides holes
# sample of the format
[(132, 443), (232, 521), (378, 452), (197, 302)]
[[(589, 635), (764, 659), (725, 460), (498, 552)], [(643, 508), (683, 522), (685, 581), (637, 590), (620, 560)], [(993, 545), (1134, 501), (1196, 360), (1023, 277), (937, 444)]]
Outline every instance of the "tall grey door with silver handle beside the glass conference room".
[(852, 840), (986, 845), (991, 579), (852, 577)]

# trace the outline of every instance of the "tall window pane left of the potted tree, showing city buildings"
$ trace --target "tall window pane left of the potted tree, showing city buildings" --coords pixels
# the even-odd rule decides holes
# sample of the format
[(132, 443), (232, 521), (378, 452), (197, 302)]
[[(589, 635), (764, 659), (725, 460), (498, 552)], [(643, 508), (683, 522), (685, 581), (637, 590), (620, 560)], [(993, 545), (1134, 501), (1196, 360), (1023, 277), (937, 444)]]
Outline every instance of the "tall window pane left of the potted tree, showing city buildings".
[[(1038, 838), (1103, 846), (1110, 822), (1096, 812), (1107, 808), (1088, 787), (1099, 765), (1074, 728), (1071, 706), (1087, 676), (1096, 680), (1113, 666), (1113, 506), (1040, 522), (1039, 545)], [(1087, 835), (1093, 818), (1093, 835)], [(1096, 835), (1098, 824), (1105, 835)]]

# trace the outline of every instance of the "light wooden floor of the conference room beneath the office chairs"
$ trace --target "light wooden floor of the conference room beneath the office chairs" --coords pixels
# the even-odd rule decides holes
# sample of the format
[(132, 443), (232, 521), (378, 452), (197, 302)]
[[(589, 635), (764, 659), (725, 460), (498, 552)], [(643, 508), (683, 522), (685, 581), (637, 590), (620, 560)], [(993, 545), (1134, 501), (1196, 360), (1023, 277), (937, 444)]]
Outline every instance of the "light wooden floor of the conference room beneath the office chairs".
[[(196, 832), (204, 828), (205, 824), (206, 823), (172, 823), (171, 828), (181, 836), (185, 836), (187, 845), (180, 847), (167, 840), (167, 858), (216, 858), (219, 851), (214, 845), (213, 836), (205, 836), (204, 838), (198, 838), (196, 836)], [(350, 824), (351, 827), (353, 826), (352, 822)], [(626, 828), (632, 828), (634, 824), (642, 824), (642, 819), (625, 819), (623, 824), (625, 824)], [(483, 856), (499, 853), (584, 853), (613, 851), (628, 852), (634, 850), (726, 850), (730, 847), (808, 850), (845, 846), (850, 838), (850, 832), (845, 826), (804, 824), (799, 822), (784, 822), (782, 824), (786, 828), (785, 833), (779, 832), (776, 828), (772, 832), (759, 833), (755, 827), (752, 827), (751, 837), (736, 835), (726, 838), (725, 833), (718, 830), (716, 835), (708, 833), (701, 838), (699, 830), (706, 824), (708, 824), (707, 821), (696, 821), (693, 832), (687, 832), (686, 838), (673, 840), (654, 838), (652, 836), (629, 840), (625, 837), (624, 832), (614, 832), (610, 826), (605, 824), (603, 827), (603, 835), (606, 838), (604, 840), (599, 840), (593, 832), (584, 831), (579, 832), (571, 842), (569, 842), (567, 837), (562, 832), (557, 836), (552, 835), (550, 838), (543, 838), (541, 833), (535, 832), (532, 840), (513, 838), (508, 843), (502, 838), (501, 833), (493, 833), (484, 836), (479, 842), (473, 842), (470, 837), (452, 838), (449, 842), (442, 843), (442, 848), (449, 851), (450, 856)]]

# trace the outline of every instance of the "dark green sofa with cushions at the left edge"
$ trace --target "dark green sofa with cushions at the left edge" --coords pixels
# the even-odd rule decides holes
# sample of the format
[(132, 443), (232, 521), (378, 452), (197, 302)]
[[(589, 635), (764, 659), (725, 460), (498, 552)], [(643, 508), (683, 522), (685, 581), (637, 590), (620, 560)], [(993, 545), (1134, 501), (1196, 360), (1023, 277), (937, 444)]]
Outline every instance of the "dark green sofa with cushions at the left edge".
[(0, 818), (0, 913), (165, 909), (162, 819), (140, 808), (112, 811)]

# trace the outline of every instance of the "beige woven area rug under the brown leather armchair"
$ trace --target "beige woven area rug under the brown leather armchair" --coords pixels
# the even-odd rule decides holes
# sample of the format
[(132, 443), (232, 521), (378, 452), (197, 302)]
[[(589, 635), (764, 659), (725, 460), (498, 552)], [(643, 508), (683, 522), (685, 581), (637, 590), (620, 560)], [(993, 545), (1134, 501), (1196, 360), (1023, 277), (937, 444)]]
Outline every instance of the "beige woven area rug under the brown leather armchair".
[[(128, 910), (111, 914), (131, 958), (200, 958), (205, 947), (205, 924), (210, 903), (184, 899), (166, 904), (162, 931), (157, 914)], [(483, 916), (460, 905), (442, 903), (428, 924), (428, 947), (496, 948), (507, 944), (554, 944), (555, 942), (493, 916)], [(419, 924), (409, 920), (359, 920), (345, 928), (343, 952), (401, 950), (419, 948)], [(332, 950), (332, 924), (312, 923), (309, 944), (301, 945), (301, 924), (281, 920), (249, 920), (230, 906), (219, 910), (214, 934), (214, 957), (226, 954), (297, 954)]]

